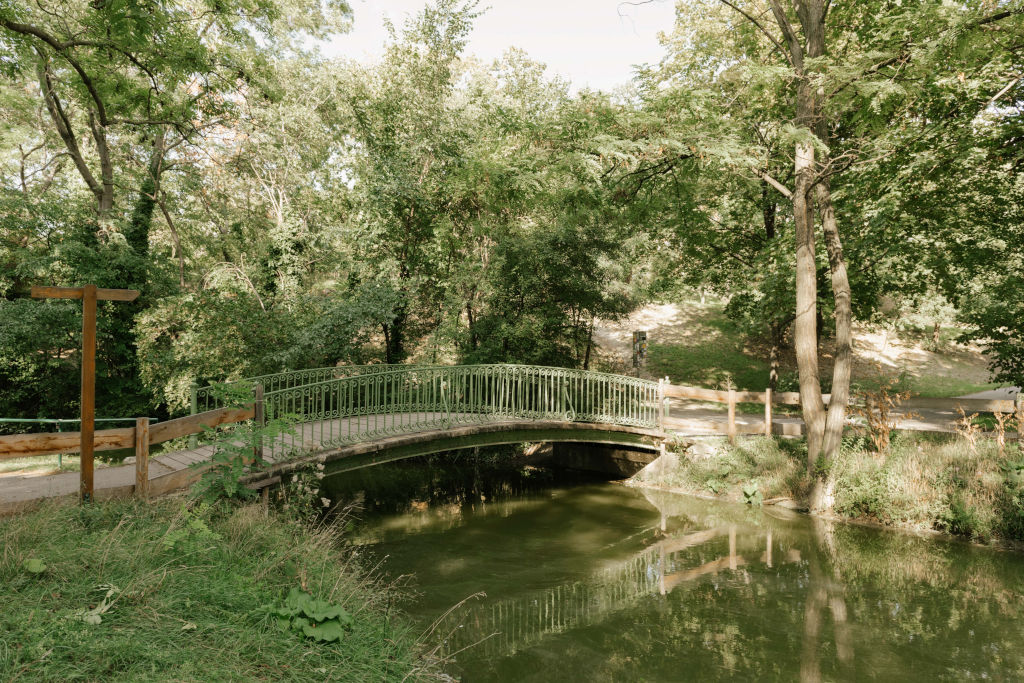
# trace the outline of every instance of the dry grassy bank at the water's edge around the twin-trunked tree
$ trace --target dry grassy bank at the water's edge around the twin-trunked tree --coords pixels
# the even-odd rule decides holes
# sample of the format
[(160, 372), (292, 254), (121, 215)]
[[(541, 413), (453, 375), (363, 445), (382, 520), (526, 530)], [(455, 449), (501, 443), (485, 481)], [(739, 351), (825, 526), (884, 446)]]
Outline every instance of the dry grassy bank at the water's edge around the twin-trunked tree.
[[(748, 437), (682, 455), (679, 465), (650, 481), (691, 494), (737, 502), (803, 502), (804, 443)], [(958, 437), (899, 432), (888, 455), (865, 438), (848, 436), (831, 468), (835, 513), (847, 519), (931, 529), (975, 541), (1024, 541), (1024, 454), (1017, 444), (999, 456), (994, 441), (975, 452)]]

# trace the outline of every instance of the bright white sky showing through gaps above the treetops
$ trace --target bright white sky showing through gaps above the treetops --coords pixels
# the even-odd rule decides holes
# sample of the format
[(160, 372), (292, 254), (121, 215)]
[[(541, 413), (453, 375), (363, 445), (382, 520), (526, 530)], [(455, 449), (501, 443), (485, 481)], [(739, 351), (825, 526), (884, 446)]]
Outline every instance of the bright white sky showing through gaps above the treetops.
[[(401, 28), (425, 0), (349, 0), (352, 31), (325, 47), (329, 56), (373, 60), (383, 51), (387, 16)], [(658, 32), (670, 32), (674, 0), (629, 5), (621, 0), (482, 0), (466, 52), (489, 62), (509, 47), (526, 51), (568, 79), (572, 89), (610, 90), (628, 83), (633, 66), (662, 57)]]

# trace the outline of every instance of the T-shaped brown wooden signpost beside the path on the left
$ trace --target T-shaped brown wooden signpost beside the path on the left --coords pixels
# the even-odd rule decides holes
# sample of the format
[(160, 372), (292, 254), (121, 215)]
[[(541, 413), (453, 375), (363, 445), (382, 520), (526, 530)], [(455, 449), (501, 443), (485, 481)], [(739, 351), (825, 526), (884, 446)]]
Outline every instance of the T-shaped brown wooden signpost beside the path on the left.
[(82, 300), (82, 465), (79, 496), (92, 501), (92, 434), (96, 417), (96, 301), (134, 301), (137, 290), (84, 287), (33, 287), (35, 299)]

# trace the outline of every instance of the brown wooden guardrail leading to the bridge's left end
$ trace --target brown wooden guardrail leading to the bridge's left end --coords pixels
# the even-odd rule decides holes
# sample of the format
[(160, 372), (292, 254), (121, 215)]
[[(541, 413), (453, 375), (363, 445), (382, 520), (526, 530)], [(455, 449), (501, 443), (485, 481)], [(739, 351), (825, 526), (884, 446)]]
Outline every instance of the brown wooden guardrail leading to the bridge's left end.
[[(172, 438), (198, 434), (205, 428), (243, 422), (256, 416), (262, 405), (253, 403), (247, 408), (219, 408), (206, 413), (189, 415), (176, 420), (168, 420), (150, 426), (148, 418), (137, 418), (134, 427), (100, 429), (93, 432), (95, 451), (135, 449), (135, 495), (148, 496), (150, 487), (150, 446)], [(55, 453), (79, 453), (80, 432), (57, 432), (45, 434), (12, 434), (0, 436), (0, 460), (49, 456)]]

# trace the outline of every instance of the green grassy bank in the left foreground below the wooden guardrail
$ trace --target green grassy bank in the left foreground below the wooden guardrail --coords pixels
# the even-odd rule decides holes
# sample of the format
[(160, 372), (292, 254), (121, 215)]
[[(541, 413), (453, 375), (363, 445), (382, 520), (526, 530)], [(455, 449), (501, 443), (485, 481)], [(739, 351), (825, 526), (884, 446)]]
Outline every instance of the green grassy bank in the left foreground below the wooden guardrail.
[[(425, 675), (389, 593), (337, 532), (258, 506), (47, 506), (0, 519), (0, 680)], [(292, 589), (351, 616), (340, 641), (283, 630), (261, 610)]]

